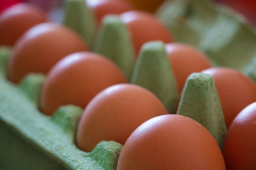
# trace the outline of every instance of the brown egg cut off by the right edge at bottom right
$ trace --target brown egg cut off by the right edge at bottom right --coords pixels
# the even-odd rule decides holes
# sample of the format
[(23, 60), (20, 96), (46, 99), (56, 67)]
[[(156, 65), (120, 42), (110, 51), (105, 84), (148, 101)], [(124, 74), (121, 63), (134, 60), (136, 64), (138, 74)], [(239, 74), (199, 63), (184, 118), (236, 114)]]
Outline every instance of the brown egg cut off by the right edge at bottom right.
[(227, 169), (256, 168), (256, 102), (244, 108), (230, 125), (223, 144)]

